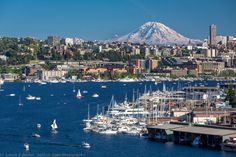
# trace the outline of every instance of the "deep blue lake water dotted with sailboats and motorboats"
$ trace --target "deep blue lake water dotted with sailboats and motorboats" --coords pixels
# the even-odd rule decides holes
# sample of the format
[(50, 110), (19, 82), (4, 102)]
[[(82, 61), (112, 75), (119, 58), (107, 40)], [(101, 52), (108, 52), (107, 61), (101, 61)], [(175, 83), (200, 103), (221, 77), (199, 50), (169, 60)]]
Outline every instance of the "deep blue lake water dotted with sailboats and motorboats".
[[(166, 82), (167, 89), (187, 86), (188, 84), (216, 85), (215, 81), (208, 82)], [(31, 84), (31, 83), (5, 83), (4, 91), (0, 91), (0, 156), (11, 153), (12, 155), (24, 154), (32, 156), (86, 156), (86, 157), (230, 157), (235, 153), (226, 153), (210, 149), (202, 149), (190, 146), (175, 145), (172, 143), (158, 143), (136, 136), (113, 135), (105, 136), (83, 131), (82, 120), (87, 117), (87, 105), (90, 104), (91, 116), (97, 112), (97, 104), (100, 111), (107, 106), (111, 96), (114, 95), (117, 102), (124, 100), (126, 93), (131, 100), (133, 89), (144, 91), (162, 89), (162, 84), (153, 82), (135, 83), (66, 83), (66, 84)], [(107, 88), (102, 89), (101, 85)], [(23, 87), (25, 86), (25, 91)], [(84, 98), (77, 100), (73, 87), (81, 91)], [(14, 93), (16, 96), (10, 97)], [(100, 97), (92, 98), (94, 93)], [(29, 101), (26, 96), (41, 97), (40, 101)], [(24, 104), (18, 106), (19, 97)], [(57, 119), (58, 133), (52, 134), (50, 125), (53, 119)], [(42, 124), (38, 129), (36, 124)], [(32, 134), (38, 133), (41, 138), (33, 138)], [(91, 144), (91, 149), (80, 147), (83, 140)], [(24, 151), (23, 144), (29, 143), (30, 150)], [(43, 153), (43, 154), (42, 154)], [(67, 155), (66, 155), (67, 154)]]

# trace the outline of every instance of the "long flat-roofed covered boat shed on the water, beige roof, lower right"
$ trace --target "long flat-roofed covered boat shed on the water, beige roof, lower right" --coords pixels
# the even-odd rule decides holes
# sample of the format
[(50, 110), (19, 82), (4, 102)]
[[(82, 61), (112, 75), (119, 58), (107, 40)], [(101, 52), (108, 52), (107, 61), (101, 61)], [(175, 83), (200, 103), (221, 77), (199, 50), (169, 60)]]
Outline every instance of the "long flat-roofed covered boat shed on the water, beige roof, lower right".
[(170, 123), (147, 126), (151, 139), (172, 141), (176, 144), (193, 144), (199, 139), (199, 146), (221, 148), (221, 144), (229, 137), (236, 137), (236, 128), (194, 125), (188, 123)]

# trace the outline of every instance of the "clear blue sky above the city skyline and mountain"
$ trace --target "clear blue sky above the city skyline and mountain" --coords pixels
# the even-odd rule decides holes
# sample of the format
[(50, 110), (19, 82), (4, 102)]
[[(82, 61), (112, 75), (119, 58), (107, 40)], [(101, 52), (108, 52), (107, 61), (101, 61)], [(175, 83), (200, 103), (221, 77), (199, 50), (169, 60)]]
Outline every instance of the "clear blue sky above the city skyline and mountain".
[(0, 0), (0, 36), (104, 40), (159, 21), (204, 39), (214, 23), (236, 36), (236, 0)]

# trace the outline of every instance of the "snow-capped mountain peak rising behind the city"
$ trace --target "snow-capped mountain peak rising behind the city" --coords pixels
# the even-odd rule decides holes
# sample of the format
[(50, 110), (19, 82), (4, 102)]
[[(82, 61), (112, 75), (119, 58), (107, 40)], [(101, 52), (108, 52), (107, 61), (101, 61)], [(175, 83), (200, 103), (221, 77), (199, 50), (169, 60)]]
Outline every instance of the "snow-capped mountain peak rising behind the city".
[(132, 42), (132, 43), (148, 43), (148, 44), (196, 44), (200, 40), (193, 40), (177, 33), (173, 29), (159, 22), (147, 22), (133, 32), (118, 37), (113, 41)]

